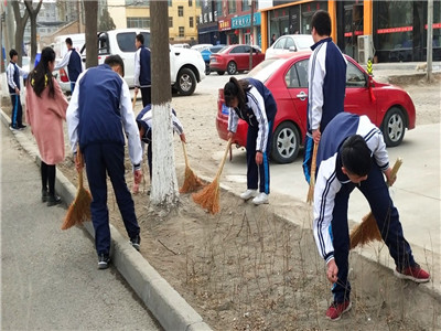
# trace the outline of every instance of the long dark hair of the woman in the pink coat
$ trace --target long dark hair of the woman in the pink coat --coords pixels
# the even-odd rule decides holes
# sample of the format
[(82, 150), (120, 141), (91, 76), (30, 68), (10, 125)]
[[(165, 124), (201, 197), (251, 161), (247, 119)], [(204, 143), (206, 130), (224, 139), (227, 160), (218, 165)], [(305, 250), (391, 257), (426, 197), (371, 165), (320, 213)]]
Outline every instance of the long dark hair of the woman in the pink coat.
[[(55, 52), (52, 47), (44, 47), (36, 67), (29, 74), (28, 86), (31, 85), (34, 93), (41, 97), (43, 90), (49, 87), (49, 96), (55, 97), (54, 82), (49, 63), (55, 61)], [(33, 82), (33, 84), (32, 84)], [(46, 85), (47, 84), (47, 85)]]

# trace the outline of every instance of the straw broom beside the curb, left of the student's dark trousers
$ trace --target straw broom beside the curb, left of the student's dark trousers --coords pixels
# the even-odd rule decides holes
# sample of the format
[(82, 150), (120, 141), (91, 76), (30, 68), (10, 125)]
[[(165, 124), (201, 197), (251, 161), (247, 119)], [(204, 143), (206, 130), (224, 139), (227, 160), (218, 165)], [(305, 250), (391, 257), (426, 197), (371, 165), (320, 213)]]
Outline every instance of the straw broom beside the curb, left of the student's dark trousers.
[(83, 156), (77, 148), (77, 162), (80, 164), (80, 169), (78, 170), (78, 190), (76, 192), (76, 196), (74, 202), (71, 204), (66, 216), (64, 217), (62, 229), (67, 229), (74, 225), (80, 225), (85, 221), (90, 220), (90, 202), (92, 195), (90, 192), (87, 191), (83, 186)]

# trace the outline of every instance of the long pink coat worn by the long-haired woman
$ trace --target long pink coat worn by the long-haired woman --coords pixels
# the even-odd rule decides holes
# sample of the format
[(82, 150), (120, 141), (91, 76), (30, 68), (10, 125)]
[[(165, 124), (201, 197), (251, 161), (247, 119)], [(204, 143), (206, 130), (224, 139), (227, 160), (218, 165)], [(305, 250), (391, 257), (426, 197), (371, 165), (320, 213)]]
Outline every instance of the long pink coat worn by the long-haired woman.
[(57, 164), (64, 160), (63, 120), (66, 120), (68, 103), (55, 78), (55, 97), (49, 96), (49, 87), (41, 97), (33, 88), (26, 88), (26, 122), (31, 126), (44, 163)]

